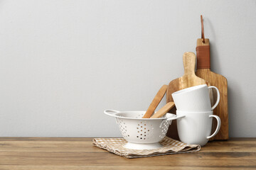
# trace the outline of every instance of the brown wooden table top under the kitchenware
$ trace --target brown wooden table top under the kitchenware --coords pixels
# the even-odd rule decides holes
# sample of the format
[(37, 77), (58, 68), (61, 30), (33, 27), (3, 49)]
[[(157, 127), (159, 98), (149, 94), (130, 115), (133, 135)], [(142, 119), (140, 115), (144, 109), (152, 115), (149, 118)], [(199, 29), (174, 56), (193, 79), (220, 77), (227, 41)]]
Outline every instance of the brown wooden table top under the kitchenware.
[(256, 138), (208, 142), (199, 152), (127, 159), (92, 138), (0, 137), (0, 169), (256, 169)]

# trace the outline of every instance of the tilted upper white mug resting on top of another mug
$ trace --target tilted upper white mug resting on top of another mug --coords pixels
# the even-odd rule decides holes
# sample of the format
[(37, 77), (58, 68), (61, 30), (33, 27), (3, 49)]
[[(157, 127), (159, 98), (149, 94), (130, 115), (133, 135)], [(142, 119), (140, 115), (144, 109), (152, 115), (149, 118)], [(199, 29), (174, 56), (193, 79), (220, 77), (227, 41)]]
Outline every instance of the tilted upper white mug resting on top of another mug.
[[(210, 106), (210, 95), (208, 89), (217, 91), (217, 101), (213, 107)], [(213, 111), (220, 101), (220, 92), (215, 86), (207, 86), (206, 84), (192, 86), (180, 91), (176, 91), (171, 96), (178, 111)]]

